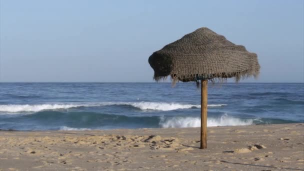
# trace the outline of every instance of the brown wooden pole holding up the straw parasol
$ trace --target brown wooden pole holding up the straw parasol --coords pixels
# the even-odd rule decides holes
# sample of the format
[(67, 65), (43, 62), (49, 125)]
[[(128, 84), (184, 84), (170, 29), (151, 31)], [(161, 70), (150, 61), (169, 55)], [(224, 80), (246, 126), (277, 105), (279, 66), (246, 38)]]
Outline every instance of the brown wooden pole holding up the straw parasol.
[(207, 148), (207, 85), (208, 80), (201, 80), (200, 98), (200, 148)]

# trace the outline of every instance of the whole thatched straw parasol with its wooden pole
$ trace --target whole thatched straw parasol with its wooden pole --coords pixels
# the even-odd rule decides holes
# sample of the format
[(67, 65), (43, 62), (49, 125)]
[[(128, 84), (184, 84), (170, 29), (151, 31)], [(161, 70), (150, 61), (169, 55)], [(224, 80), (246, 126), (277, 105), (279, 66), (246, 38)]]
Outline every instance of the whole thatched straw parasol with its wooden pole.
[(224, 36), (207, 27), (201, 27), (180, 39), (153, 52), (149, 64), (154, 70), (154, 79), (171, 76), (177, 81), (195, 81), (201, 84), (201, 135), (200, 148), (206, 148), (207, 82), (224, 81), (234, 77), (256, 77), (259, 64), (255, 53), (244, 46), (228, 41)]

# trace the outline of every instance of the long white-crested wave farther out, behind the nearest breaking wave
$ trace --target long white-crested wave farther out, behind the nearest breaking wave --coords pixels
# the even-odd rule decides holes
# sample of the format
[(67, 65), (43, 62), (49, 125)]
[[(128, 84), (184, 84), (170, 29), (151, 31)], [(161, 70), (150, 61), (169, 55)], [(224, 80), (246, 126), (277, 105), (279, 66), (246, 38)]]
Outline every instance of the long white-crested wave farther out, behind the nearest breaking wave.
[[(20, 112), (20, 111), (42, 111), (42, 110), (55, 110), (67, 109), (73, 107), (90, 107), (90, 106), (106, 106), (106, 105), (130, 105), (141, 110), (176, 110), (185, 108), (200, 108), (198, 104), (180, 104), (180, 103), (167, 103), (167, 102), (101, 102), (101, 103), (84, 103), (84, 104), (6, 104), (0, 105), (0, 111), (6, 112)], [(224, 106), (227, 104), (208, 104), (209, 107)]]

